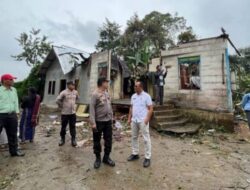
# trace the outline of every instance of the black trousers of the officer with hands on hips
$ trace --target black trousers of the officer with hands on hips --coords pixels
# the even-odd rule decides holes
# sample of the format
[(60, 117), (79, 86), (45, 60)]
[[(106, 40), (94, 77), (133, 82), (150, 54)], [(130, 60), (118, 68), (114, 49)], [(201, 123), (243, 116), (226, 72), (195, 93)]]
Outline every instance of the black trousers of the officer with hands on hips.
[(61, 122), (62, 122), (62, 127), (61, 127), (60, 136), (62, 138), (65, 138), (66, 128), (67, 128), (67, 125), (69, 124), (69, 132), (70, 132), (71, 138), (75, 139), (76, 138), (76, 114), (62, 115)]

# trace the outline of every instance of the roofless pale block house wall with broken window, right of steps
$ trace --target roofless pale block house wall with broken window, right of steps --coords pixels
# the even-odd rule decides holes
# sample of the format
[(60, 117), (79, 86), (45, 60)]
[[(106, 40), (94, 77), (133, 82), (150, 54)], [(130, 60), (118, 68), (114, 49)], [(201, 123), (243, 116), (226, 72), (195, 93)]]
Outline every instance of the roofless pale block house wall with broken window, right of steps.
[[(161, 52), (152, 60), (149, 71), (157, 65), (168, 67), (164, 100), (196, 120), (233, 126), (232, 80), (228, 36), (195, 40)], [(151, 95), (153, 95), (151, 89)]]

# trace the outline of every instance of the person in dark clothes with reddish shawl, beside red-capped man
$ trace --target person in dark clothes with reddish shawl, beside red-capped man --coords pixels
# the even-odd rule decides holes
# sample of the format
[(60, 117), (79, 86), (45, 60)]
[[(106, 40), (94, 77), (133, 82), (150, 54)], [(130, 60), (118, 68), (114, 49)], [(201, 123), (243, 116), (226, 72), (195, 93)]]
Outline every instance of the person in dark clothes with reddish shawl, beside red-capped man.
[(40, 96), (36, 93), (36, 89), (31, 87), (28, 90), (28, 96), (22, 100), (21, 107), (23, 109), (20, 121), (19, 138), (22, 142), (29, 140), (33, 142), (35, 136), (35, 127), (38, 124)]

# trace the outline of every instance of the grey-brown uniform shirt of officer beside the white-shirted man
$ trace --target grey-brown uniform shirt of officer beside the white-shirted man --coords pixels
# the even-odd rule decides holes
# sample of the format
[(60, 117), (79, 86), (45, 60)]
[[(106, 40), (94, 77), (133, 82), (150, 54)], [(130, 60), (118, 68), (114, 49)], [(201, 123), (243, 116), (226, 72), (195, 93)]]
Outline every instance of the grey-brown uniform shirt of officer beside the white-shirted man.
[(110, 121), (112, 118), (113, 111), (108, 92), (103, 92), (99, 89), (95, 90), (89, 105), (90, 123), (96, 125), (96, 121)]

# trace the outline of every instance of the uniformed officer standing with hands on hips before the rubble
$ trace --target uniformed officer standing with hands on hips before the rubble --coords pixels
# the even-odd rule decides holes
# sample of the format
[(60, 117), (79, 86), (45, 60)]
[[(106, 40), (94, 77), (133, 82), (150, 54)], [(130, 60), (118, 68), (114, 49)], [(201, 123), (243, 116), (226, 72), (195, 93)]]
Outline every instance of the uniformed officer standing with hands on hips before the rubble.
[(69, 131), (71, 135), (71, 145), (75, 147), (76, 143), (76, 101), (79, 95), (75, 90), (75, 83), (73, 81), (67, 82), (67, 89), (63, 90), (56, 98), (56, 103), (61, 108), (61, 140), (59, 146), (65, 144), (66, 128), (69, 124)]

